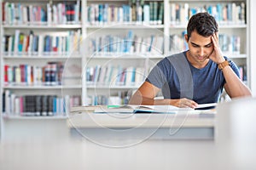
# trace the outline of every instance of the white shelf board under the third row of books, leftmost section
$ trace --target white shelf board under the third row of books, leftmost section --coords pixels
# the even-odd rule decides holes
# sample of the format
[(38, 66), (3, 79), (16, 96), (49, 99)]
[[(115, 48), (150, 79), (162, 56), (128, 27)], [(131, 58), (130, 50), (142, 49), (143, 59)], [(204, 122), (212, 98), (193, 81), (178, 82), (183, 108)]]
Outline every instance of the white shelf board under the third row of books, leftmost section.
[(3, 88), (5, 89), (42, 89), (42, 90), (48, 90), (48, 89), (73, 89), (73, 88), (82, 88), (81, 85), (73, 85), (73, 86), (20, 86), (20, 85), (9, 85), (9, 86), (3, 86)]

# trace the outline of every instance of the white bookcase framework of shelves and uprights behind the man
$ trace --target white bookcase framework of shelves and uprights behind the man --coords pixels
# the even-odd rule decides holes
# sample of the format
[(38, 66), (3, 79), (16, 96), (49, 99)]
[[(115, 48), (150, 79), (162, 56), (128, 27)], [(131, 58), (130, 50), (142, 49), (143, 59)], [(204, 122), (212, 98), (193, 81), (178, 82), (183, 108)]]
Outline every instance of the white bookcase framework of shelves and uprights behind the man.
[[(2, 2), (14, 2), (19, 3), (20, 1), (17, 0), (11, 0), (11, 1), (0, 1)], [(59, 1), (50, 1), (52, 3), (58, 3)], [(70, 0), (67, 1), (68, 3), (76, 3), (76, 0)], [(144, 1), (145, 4), (148, 4), (152, 1)], [(104, 0), (104, 1), (92, 1), (92, 0), (81, 0), (81, 20), (79, 20), (78, 23), (75, 24), (47, 24), (47, 23), (29, 23), (29, 24), (4, 24), (1, 20), (1, 28), (0, 28), (0, 37), (1, 40), (3, 36), (7, 33), (15, 33), (15, 30), (20, 30), (28, 33), (30, 30), (37, 32), (38, 34), (50, 34), (50, 35), (58, 35), (62, 34), (66, 31), (77, 31), (80, 30), (82, 42), (81, 42), (81, 54), (74, 54), (74, 53), (67, 53), (67, 54), (38, 54), (38, 55), (27, 55), (27, 54), (3, 54), (3, 44), (1, 43), (1, 94), (3, 94), (4, 90), (13, 90), (17, 94), (27, 93), (29, 91), (29, 94), (32, 94), (32, 92), (37, 93), (37, 91), (43, 90), (48, 91), (49, 94), (61, 94), (63, 93), (74, 93), (74, 94), (80, 94), (82, 104), (86, 105), (88, 99), (87, 97), (97, 93), (97, 94), (118, 94), (118, 91), (133, 91), (138, 88), (138, 85), (131, 86), (131, 85), (123, 85), (123, 86), (117, 86), (117, 85), (99, 85), (97, 83), (91, 85), (86, 82), (85, 78), (85, 71), (87, 66), (96, 66), (96, 65), (103, 65), (106, 62), (111, 62), (113, 65), (123, 65), (124, 67), (129, 66), (135, 66), (135, 67), (144, 67), (147, 69), (145, 71), (145, 76), (148, 73), (148, 70), (151, 66), (153, 66), (157, 61), (162, 59), (164, 56), (167, 56), (169, 54), (177, 53), (178, 51), (182, 51), (183, 49), (177, 49), (177, 51), (169, 51), (169, 39), (168, 37), (172, 34), (181, 35), (182, 31), (185, 31), (186, 29), (186, 22), (183, 22), (182, 24), (173, 24), (170, 19), (170, 3), (178, 3), (178, 4), (184, 4), (188, 3), (189, 7), (195, 7), (195, 6), (203, 6), (203, 5), (216, 5), (217, 3), (221, 4), (227, 4), (227, 3), (233, 3), (233, 1), (230, 0), (212, 0), (212, 1), (205, 1), (201, 2), (198, 0), (192, 0), (192, 1), (185, 1), (185, 0), (157, 0), (155, 1), (157, 3), (164, 3), (164, 18), (162, 24), (152, 24), (152, 23), (144, 23), (144, 22), (138, 22), (138, 21), (123, 21), (123, 22), (108, 22), (108, 23), (94, 23), (91, 24), (88, 22), (88, 7), (90, 7), (91, 4), (99, 4), (99, 3), (108, 3), (113, 4), (115, 6), (121, 6), (122, 4), (128, 5), (129, 0)], [(253, 47), (250, 47), (250, 44), (253, 43), (253, 31), (250, 26), (253, 25), (253, 20), (251, 19), (251, 16), (253, 16), (253, 1), (252, 0), (237, 0), (236, 3), (245, 3), (247, 8), (247, 20), (246, 23), (243, 24), (220, 24), (219, 25), (219, 31), (220, 33), (226, 33), (228, 35), (238, 35), (241, 37), (241, 50), (239, 53), (233, 53), (233, 52), (224, 52), (224, 55), (230, 57), (230, 59), (233, 59), (237, 65), (247, 65), (247, 84), (250, 88), (254, 90), (255, 82), (253, 82)], [(48, 1), (40, 1), (40, 2), (32, 2), (29, 0), (21, 1), (20, 3), (32, 3), (32, 4), (42, 4), (45, 5), (46, 3), (49, 3)], [(2, 5), (2, 4), (1, 4)], [(2, 6), (1, 6), (2, 8)], [(2, 18), (2, 13), (0, 14)], [(248, 24), (251, 23), (251, 24)], [(89, 52), (88, 51), (88, 42), (90, 42), (90, 38), (95, 38), (97, 36), (102, 35), (121, 35), (125, 36), (128, 31), (133, 31), (134, 35), (143, 35), (143, 36), (150, 36), (151, 34), (158, 34), (160, 36), (163, 36), (163, 42), (164, 42), (164, 49), (163, 54), (152, 54), (152, 53), (101, 53), (101, 52)], [(152, 31), (152, 32), (151, 32)], [(252, 46), (252, 45), (251, 45)], [(29, 63), (31, 65), (42, 65), (42, 63), (45, 63), (47, 61), (63, 61), (67, 63), (73, 63), (78, 64), (81, 67), (81, 71), (79, 75), (75, 75), (76, 81), (74, 84), (67, 84), (67, 86), (54, 86), (54, 87), (47, 87), (47, 86), (13, 86), (8, 85), (5, 86), (3, 83), (3, 66), (6, 62), (12, 65), (18, 65), (19, 63)], [(72, 64), (67, 64), (72, 65)], [(66, 65), (66, 66), (67, 66)], [(69, 80), (73, 81), (73, 80)], [(2, 98), (0, 101), (3, 101)], [(2, 102), (1, 102), (2, 103)], [(2, 107), (2, 106), (1, 106)], [(1, 108), (2, 111), (2, 108)]]

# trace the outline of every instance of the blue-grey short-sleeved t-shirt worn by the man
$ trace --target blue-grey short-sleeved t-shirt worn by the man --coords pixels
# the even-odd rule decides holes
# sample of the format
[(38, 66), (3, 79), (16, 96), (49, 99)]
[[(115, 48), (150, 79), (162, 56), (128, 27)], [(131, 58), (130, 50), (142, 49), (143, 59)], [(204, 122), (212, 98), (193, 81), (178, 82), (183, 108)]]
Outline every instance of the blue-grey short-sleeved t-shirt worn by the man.
[[(236, 64), (224, 58), (240, 77)], [(165, 99), (188, 98), (198, 104), (218, 102), (225, 83), (224, 75), (216, 63), (210, 59), (204, 68), (197, 69), (189, 63), (186, 51), (161, 59), (150, 71), (146, 81), (161, 88)]]

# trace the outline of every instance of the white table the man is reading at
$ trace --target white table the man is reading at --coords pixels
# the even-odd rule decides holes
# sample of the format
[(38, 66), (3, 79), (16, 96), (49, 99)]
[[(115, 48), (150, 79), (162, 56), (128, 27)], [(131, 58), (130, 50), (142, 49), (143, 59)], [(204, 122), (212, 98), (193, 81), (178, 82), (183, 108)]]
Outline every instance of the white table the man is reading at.
[[(73, 138), (103, 144), (140, 142), (145, 139), (214, 139), (214, 113), (181, 111), (177, 114), (94, 114), (68, 118)], [(102, 142), (104, 141), (104, 142)], [(121, 145), (122, 145), (121, 144)]]

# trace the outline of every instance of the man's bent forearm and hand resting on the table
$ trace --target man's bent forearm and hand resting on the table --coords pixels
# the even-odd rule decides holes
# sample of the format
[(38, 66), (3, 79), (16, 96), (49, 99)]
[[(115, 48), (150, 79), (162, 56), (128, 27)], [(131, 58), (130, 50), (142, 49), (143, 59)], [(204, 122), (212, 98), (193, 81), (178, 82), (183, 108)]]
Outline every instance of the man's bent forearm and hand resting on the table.
[(174, 105), (177, 107), (195, 108), (197, 103), (191, 99), (154, 99), (160, 88), (150, 82), (143, 82), (137, 92), (131, 96), (130, 105)]

